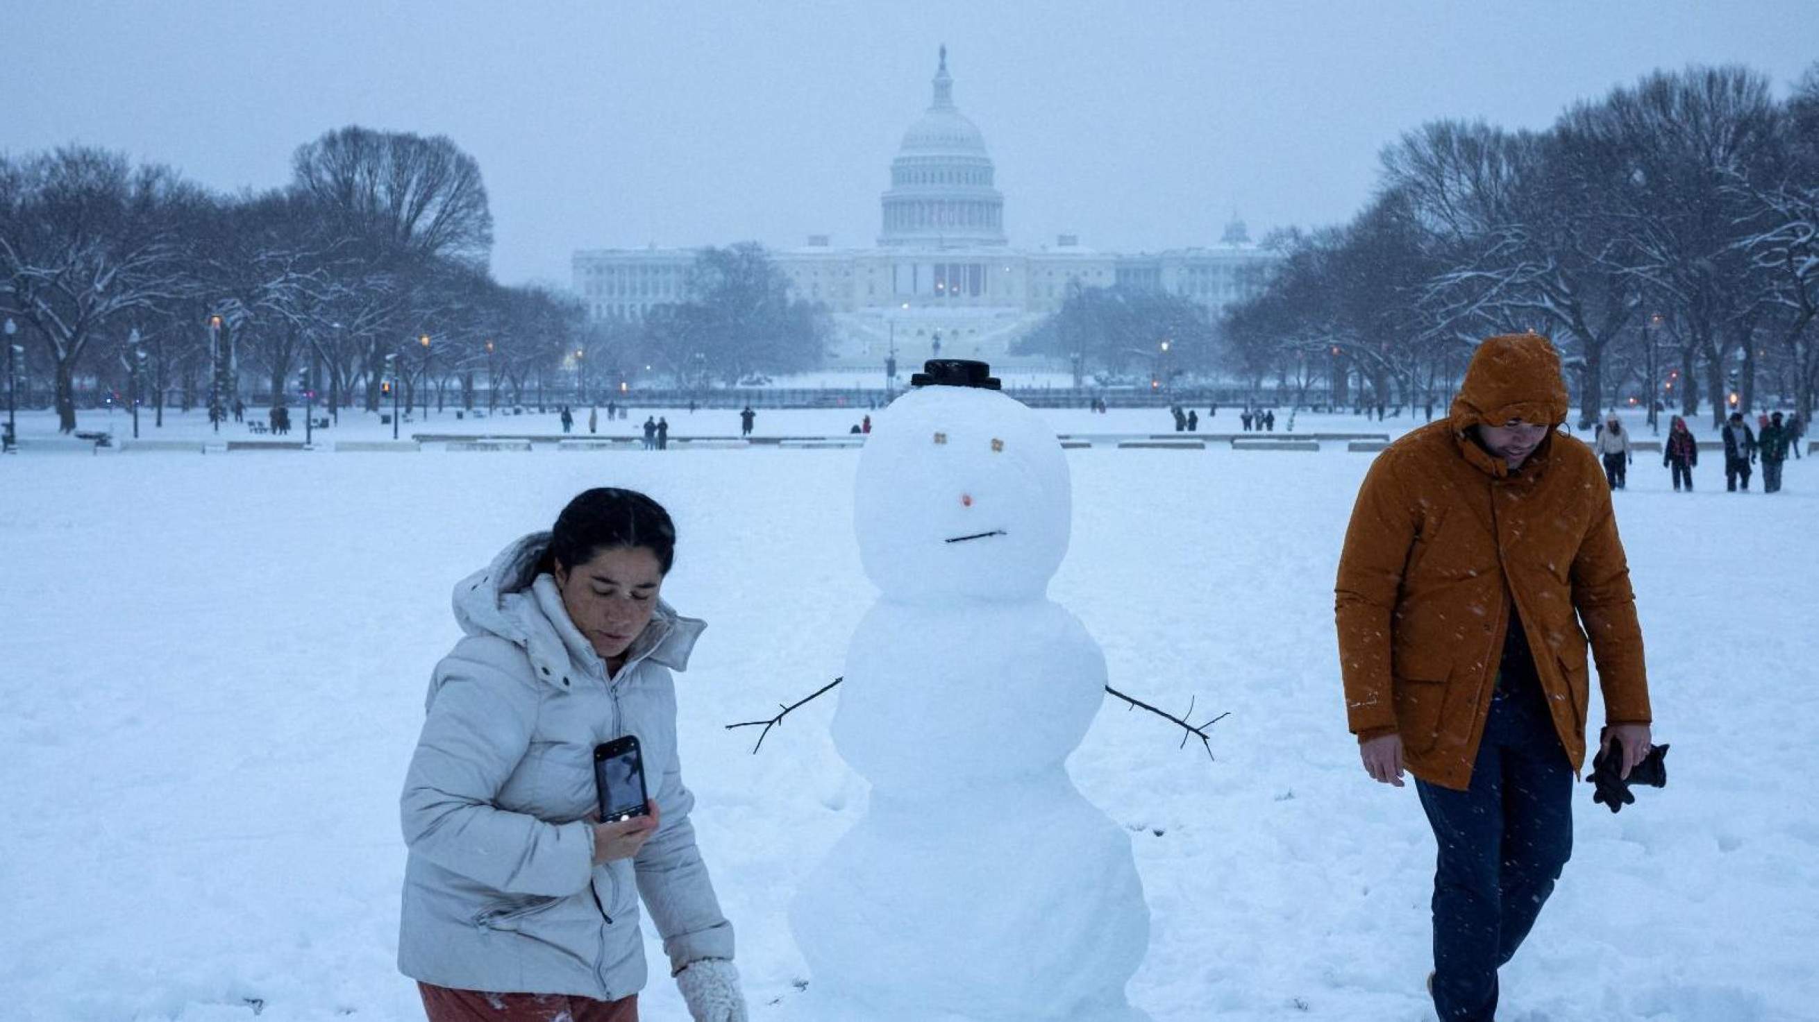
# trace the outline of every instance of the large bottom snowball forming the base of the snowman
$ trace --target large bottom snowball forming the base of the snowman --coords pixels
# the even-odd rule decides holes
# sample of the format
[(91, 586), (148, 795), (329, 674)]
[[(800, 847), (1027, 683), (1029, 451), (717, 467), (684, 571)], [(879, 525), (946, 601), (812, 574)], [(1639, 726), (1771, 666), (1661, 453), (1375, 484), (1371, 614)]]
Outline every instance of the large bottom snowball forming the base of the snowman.
[(1131, 1018), (1150, 944), (1130, 835), (1059, 766), (953, 802), (873, 789), (789, 924), (815, 995), (919, 1022)]

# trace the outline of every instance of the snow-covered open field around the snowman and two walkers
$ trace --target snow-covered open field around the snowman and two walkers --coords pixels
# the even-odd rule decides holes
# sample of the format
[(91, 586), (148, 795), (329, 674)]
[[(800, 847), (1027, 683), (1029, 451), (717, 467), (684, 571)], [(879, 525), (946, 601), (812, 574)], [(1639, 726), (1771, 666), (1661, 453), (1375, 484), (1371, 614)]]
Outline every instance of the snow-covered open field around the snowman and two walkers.
[[(857, 420), (759, 427), (791, 415)], [(1166, 429), (1161, 411), (1051, 413), (1075, 420)], [(22, 431), (45, 426), (35, 413)], [(1235, 426), (1222, 409), (1217, 429)], [(457, 636), (449, 589), (578, 489), (615, 484), (671, 509), (666, 596), (711, 622), (678, 678), (682, 756), (753, 1015), (777, 1018), (809, 978), (784, 907), (866, 791), (833, 753), (829, 700), (759, 756), (751, 731), (722, 726), (840, 669), (873, 600), (857, 458), (0, 460), (0, 1017), (420, 1018), (393, 967), (397, 798)], [(1231, 711), (1217, 762), (1113, 704), (1070, 760), (1130, 827), (1153, 911), (1130, 993), (1157, 1022), (1432, 1018), (1432, 838), (1413, 787), (1364, 778), (1335, 664), (1332, 580), (1368, 462), (1342, 446), (1070, 453), (1073, 546), (1051, 596), (1104, 646), (1115, 687)], [(1719, 462), (1675, 495), (1641, 455), (1617, 495), (1672, 784), (1617, 817), (1579, 787), (1573, 860), (1504, 971), (1504, 1018), (1819, 1018), (1819, 462), (1790, 462), (1777, 496), (1723, 493)], [(684, 1018), (660, 978), (644, 1013)]]

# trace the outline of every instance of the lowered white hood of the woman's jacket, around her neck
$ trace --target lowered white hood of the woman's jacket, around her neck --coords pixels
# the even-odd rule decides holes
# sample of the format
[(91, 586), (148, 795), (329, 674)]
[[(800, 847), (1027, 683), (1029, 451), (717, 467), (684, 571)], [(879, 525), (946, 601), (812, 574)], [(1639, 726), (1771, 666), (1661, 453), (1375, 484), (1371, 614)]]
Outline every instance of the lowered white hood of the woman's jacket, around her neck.
[[(529, 653), (542, 676), (555, 678), (569, 662), (586, 664), (606, 676), (606, 666), (562, 611), (551, 578), (540, 578), (549, 533), (531, 533), (509, 544), (493, 564), (455, 584), (455, 624), (467, 635), (497, 635)], [(633, 640), (626, 666), (649, 658), (673, 671), (686, 671), (695, 642), (708, 622), (686, 618), (658, 600), (651, 624)], [(624, 675), (624, 669), (620, 669)]]

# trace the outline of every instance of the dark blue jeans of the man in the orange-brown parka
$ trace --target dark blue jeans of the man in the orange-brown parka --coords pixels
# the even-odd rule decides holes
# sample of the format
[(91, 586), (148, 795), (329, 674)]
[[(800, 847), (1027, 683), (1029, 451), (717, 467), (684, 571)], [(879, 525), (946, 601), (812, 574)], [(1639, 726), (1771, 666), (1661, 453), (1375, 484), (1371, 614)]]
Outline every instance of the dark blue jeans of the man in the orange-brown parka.
[(1490, 1022), (1515, 957), (1573, 851), (1573, 767), (1539, 689), (1492, 698), (1470, 791), (1415, 780), (1439, 844), (1433, 1007)]

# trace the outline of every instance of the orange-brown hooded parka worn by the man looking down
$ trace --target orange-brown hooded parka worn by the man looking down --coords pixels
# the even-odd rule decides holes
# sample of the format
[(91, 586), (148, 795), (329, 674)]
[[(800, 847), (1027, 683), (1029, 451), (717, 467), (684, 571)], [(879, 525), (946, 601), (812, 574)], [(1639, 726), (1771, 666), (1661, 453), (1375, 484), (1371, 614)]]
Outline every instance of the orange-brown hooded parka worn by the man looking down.
[(1635, 595), (1597, 456), (1550, 433), (1510, 471), (1475, 440), (1481, 422), (1559, 424), (1566, 407), (1546, 338), (1492, 336), (1450, 416), (1392, 444), (1359, 489), (1335, 587), (1346, 716), (1361, 742), (1401, 733), (1404, 764), (1430, 784), (1472, 782), (1512, 607), (1575, 771), (1588, 636), (1606, 724), (1650, 720)]

